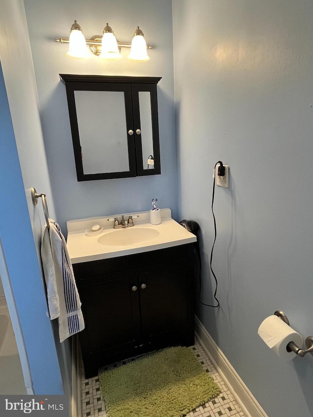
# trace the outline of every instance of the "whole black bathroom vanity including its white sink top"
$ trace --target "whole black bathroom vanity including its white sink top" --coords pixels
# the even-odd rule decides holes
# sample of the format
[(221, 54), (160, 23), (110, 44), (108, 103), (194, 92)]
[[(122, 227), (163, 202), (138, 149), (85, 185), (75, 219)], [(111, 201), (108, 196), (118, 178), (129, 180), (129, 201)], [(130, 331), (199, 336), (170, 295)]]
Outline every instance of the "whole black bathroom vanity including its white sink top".
[[(136, 214), (131, 231), (113, 231), (108, 218), (86, 219), (83, 225), (67, 222), (67, 248), (85, 320), (79, 339), (86, 377), (95, 376), (101, 366), (144, 352), (194, 344), (196, 237), (170, 218), (169, 209), (161, 212), (159, 225), (147, 221), (149, 212)], [(102, 232), (87, 236), (84, 228), (89, 230), (95, 222)], [(79, 227), (81, 231), (75, 230)], [(158, 234), (138, 242), (136, 229)], [(128, 243), (99, 243), (116, 232), (125, 233)]]

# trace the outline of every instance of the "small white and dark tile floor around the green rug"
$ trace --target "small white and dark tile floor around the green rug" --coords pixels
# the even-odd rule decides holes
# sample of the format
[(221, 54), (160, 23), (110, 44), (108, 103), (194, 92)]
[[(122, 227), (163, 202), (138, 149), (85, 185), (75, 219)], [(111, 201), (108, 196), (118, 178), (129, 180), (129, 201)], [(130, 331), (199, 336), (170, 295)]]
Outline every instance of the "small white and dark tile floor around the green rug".
[[(186, 417), (245, 416), (237, 402), (234, 400), (234, 397), (228, 391), (226, 385), (224, 384), (224, 381), (212, 365), (212, 362), (203, 351), (197, 339), (195, 346), (193, 346), (193, 351), (200, 363), (202, 364), (203, 369), (206, 370), (212, 376), (214, 381), (220, 386), (222, 392), (218, 397), (214, 398), (212, 401), (209, 401), (208, 403), (196, 408), (195, 410), (187, 414)], [(109, 367), (106, 367), (104, 369), (109, 369), (113, 366), (118, 367), (131, 360), (132, 359), (129, 359), (124, 362), (119, 362), (115, 365), (110, 365)], [(93, 378), (85, 379), (82, 361), (80, 361), (79, 372), (81, 373), (81, 417), (107, 417), (105, 400), (102, 398), (101, 395), (99, 378), (95, 376)]]

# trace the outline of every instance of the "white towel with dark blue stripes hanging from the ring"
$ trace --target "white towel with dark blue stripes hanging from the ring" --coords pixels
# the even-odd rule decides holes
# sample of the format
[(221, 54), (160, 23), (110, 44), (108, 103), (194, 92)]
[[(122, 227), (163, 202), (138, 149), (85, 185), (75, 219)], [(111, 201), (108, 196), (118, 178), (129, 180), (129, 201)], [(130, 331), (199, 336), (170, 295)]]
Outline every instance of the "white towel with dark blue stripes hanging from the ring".
[(50, 319), (59, 317), (60, 342), (85, 328), (81, 302), (60, 226), (49, 219), (42, 233), (41, 258)]

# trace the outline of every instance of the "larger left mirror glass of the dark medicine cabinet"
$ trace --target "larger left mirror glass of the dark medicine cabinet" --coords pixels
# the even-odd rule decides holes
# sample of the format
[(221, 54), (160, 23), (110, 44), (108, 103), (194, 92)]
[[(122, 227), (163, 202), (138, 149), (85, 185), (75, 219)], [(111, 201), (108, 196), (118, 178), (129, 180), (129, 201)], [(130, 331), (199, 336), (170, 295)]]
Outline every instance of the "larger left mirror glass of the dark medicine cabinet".
[(124, 91), (74, 91), (74, 98), (84, 174), (130, 172)]

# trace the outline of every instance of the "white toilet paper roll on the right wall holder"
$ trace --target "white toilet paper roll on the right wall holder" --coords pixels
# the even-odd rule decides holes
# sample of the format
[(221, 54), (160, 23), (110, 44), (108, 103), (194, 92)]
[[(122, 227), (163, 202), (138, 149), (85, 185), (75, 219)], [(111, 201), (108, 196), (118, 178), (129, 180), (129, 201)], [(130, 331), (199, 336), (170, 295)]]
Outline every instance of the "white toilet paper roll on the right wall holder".
[(284, 361), (289, 361), (296, 356), (294, 352), (287, 351), (289, 342), (294, 342), (299, 348), (302, 348), (302, 336), (275, 315), (267, 317), (261, 323), (258, 334), (268, 347)]

